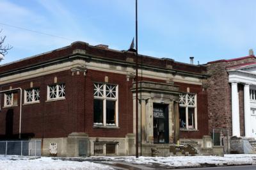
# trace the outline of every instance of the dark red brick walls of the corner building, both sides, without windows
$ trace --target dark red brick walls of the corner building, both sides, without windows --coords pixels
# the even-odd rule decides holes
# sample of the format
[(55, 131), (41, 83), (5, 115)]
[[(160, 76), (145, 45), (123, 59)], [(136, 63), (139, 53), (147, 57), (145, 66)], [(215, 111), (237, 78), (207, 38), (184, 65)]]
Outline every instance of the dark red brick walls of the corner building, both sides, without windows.
[[(118, 123), (119, 128), (93, 128), (93, 82), (104, 82), (108, 76), (109, 83), (118, 84)], [(65, 83), (65, 100), (45, 102), (47, 100), (47, 85), (54, 83), (54, 77), (58, 82)], [(143, 77), (144, 81), (165, 82), (157, 79)], [(40, 104), (24, 104), (22, 97), (22, 134), (30, 137), (67, 137), (71, 132), (86, 132), (90, 137), (125, 137), (132, 133), (133, 109), (132, 109), (132, 79), (127, 81), (126, 75), (118, 73), (87, 70), (86, 76), (82, 72), (70, 70), (52, 73), (13, 82), (1, 86), (1, 90), (12, 88), (40, 88)], [(175, 83), (180, 86), (180, 91), (186, 92), (187, 87), (191, 93), (197, 94), (198, 132), (181, 132), (180, 137), (200, 138), (207, 134), (207, 93), (202, 91), (202, 86)], [(206, 102), (205, 102), (206, 101)], [(1, 105), (3, 105), (3, 95)], [(19, 104), (19, 102), (18, 102)], [(0, 136), (6, 137), (6, 115), (13, 109), (12, 134), (19, 134), (19, 106), (2, 108), (0, 114)], [(9, 115), (9, 114), (8, 114)], [(202, 122), (202, 123), (201, 123)], [(8, 123), (10, 125), (10, 122)]]

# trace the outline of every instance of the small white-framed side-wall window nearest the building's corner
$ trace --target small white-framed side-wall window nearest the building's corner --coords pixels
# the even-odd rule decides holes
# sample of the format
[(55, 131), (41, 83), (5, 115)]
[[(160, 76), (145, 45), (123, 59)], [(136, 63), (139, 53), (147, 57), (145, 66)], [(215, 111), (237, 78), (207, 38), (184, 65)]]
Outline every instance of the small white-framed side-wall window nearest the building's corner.
[(47, 100), (65, 98), (65, 84), (47, 86)]

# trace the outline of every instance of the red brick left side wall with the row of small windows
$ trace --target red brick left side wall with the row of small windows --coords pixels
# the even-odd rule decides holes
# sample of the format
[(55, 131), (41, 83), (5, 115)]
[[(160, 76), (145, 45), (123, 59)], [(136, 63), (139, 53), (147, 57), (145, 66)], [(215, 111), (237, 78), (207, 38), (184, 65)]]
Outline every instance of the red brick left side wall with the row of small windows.
[[(22, 124), (21, 133), (31, 134), (31, 137), (67, 137), (71, 132), (76, 131), (76, 88), (75, 76), (71, 75), (70, 70), (58, 73), (52, 73), (27, 79), (24, 81), (13, 82), (1, 86), (1, 90), (12, 88), (22, 88)], [(47, 85), (54, 83), (54, 77), (58, 82), (65, 83), (66, 99), (54, 102), (45, 102), (47, 100)], [(24, 89), (30, 88), (30, 82), (33, 87), (40, 88), (40, 104), (24, 105)], [(1, 106), (4, 104), (3, 94), (1, 96)], [(20, 95), (19, 95), (20, 98)], [(13, 135), (19, 134), (19, 104), (17, 107), (3, 108), (0, 114), (0, 136), (6, 134), (6, 116), (13, 109)], [(9, 123), (10, 124), (10, 123)]]

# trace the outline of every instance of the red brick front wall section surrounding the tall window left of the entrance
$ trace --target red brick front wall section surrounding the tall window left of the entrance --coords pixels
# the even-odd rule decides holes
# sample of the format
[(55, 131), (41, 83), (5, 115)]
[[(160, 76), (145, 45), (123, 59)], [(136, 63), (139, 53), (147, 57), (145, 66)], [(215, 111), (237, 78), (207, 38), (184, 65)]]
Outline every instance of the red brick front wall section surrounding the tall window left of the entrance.
[[(108, 76), (109, 83), (118, 84), (119, 128), (93, 128), (93, 82), (104, 82), (105, 76)], [(87, 70), (85, 132), (90, 137), (125, 137), (127, 133), (132, 133), (133, 109), (131, 87), (132, 80), (127, 81), (126, 75)]]

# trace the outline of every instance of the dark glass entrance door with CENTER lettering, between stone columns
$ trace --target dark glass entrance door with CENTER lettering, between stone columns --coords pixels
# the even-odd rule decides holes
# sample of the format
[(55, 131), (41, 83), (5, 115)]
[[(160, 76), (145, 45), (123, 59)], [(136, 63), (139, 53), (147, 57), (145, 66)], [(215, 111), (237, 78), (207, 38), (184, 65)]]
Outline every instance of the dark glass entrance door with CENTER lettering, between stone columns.
[(153, 105), (154, 143), (169, 143), (168, 105)]

